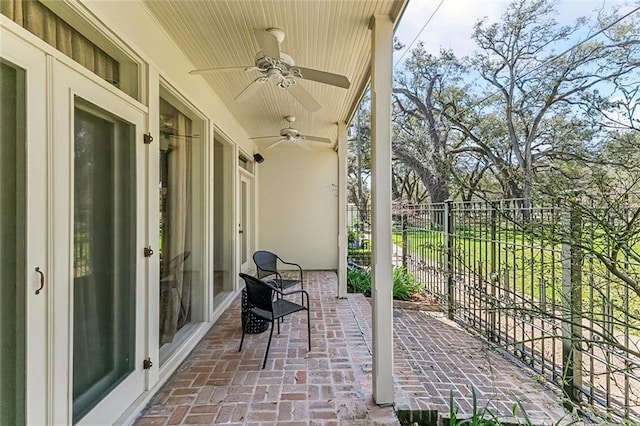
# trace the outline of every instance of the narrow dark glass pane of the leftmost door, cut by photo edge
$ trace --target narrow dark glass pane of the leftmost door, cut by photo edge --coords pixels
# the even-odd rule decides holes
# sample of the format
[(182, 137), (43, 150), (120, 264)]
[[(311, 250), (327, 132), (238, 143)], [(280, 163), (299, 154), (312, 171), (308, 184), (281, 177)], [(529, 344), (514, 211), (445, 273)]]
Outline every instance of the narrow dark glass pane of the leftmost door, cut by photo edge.
[(25, 72), (0, 60), (0, 423), (25, 422)]

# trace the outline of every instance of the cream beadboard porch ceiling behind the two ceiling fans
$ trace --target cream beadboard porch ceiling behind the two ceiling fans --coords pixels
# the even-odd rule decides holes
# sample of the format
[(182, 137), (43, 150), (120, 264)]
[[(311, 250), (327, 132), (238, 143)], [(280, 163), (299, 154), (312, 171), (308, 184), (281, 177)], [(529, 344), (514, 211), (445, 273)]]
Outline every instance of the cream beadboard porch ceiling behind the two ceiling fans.
[[(370, 76), (371, 33), (374, 15), (388, 15), (395, 23), (409, 0), (284, 0), (284, 1), (175, 1), (142, 0), (194, 69), (251, 66), (260, 51), (254, 29), (279, 28), (280, 44), (295, 65), (345, 75), (349, 89), (310, 80), (298, 80), (320, 104), (311, 112), (275, 84), (261, 85), (246, 102), (234, 101), (255, 80), (257, 71), (185, 75), (202, 78), (225, 102), (250, 137), (278, 135), (287, 127), (285, 116), (295, 116), (295, 128), (304, 135), (332, 143), (305, 142), (333, 148), (337, 122), (347, 121)], [(272, 140), (273, 141), (273, 140)], [(256, 141), (264, 148), (272, 141)], [(286, 148), (280, 144), (279, 147)]]

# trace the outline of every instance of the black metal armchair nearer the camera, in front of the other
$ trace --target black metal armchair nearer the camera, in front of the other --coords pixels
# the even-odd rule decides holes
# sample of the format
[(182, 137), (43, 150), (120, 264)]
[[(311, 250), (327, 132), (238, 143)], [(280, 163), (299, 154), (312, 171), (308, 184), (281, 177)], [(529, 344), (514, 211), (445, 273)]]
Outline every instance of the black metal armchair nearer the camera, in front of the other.
[[(309, 344), (309, 350), (311, 350), (311, 316), (309, 314), (309, 294), (305, 290), (292, 290), (289, 292), (283, 292), (272, 284), (264, 282), (256, 277), (252, 277), (251, 275), (247, 274), (241, 273), (240, 278), (244, 280), (246, 285), (247, 298), (251, 306), (251, 313), (260, 318), (264, 318), (266, 321), (269, 321), (271, 323), (269, 342), (267, 343), (267, 350), (264, 354), (262, 368), (264, 369), (264, 367), (267, 365), (269, 347), (271, 346), (271, 338), (273, 337), (273, 324), (275, 322), (278, 322), (278, 334), (280, 334), (279, 320), (287, 315), (299, 311), (307, 311), (307, 341)], [(302, 294), (302, 304), (291, 302), (282, 297), (298, 293)], [(276, 295), (278, 295), (278, 297), (274, 297)], [(242, 350), (244, 335), (245, 330), (243, 327), (242, 339), (240, 339), (240, 348), (238, 349), (238, 352)]]

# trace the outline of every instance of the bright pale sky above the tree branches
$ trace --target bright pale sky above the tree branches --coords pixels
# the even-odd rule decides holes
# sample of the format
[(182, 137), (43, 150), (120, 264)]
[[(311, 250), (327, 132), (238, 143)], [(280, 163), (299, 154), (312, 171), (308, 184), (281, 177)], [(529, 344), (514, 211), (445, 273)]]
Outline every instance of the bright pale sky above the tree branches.
[[(395, 33), (405, 45), (405, 50), (420, 33), (440, 1), (409, 1)], [(508, 3), (505, 0), (444, 0), (412, 47), (415, 47), (418, 41), (423, 41), (428, 53), (437, 54), (443, 47), (452, 49), (458, 57), (469, 55), (475, 49), (471, 32), (476, 21), (484, 17), (488, 18), (488, 22), (499, 20)], [(638, 7), (638, 1), (634, 3), (622, 0), (560, 0), (556, 19), (562, 24), (569, 24), (579, 16), (594, 15), (594, 10), (602, 7), (608, 9), (615, 5), (621, 6), (622, 10), (631, 10)], [(394, 62), (397, 62), (403, 53), (404, 50), (396, 52)], [(403, 60), (408, 56), (407, 53)]]

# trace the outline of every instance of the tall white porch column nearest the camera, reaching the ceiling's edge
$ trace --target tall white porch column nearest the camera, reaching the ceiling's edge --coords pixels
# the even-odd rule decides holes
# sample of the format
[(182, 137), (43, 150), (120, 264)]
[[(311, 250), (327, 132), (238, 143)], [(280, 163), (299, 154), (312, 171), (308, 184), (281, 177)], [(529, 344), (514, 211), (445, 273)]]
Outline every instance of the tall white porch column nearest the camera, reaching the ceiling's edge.
[(371, 212), (373, 399), (393, 404), (393, 282), (391, 264), (391, 89), (393, 23), (371, 21)]

